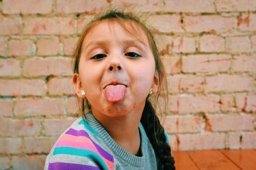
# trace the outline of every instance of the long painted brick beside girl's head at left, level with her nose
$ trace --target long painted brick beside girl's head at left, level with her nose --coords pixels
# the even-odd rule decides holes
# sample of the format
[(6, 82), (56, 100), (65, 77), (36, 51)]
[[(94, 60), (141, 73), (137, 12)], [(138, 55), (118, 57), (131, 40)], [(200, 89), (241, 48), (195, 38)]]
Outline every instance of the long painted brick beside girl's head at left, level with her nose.
[(71, 59), (63, 57), (47, 57), (26, 59), (23, 65), (24, 76), (71, 76)]

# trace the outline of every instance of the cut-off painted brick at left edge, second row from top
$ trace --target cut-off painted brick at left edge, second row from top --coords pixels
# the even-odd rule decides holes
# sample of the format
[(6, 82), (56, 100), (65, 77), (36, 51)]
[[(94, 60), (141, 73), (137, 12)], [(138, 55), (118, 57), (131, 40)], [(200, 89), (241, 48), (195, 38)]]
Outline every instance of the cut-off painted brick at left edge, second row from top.
[(0, 18), (0, 35), (19, 34), (21, 27), (19, 18)]

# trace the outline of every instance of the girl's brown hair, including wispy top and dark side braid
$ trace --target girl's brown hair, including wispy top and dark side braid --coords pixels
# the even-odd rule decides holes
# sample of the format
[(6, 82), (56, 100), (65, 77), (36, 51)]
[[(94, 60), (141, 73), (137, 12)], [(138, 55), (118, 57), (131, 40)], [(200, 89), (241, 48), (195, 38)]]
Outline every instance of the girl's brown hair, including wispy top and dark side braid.
[[(166, 143), (166, 136), (164, 135), (164, 129), (163, 126), (160, 124), (159, 118), (156, 115), (156, 107), (157, 103), (159, 101), (159, 96), (161, 92), (161, 99), (165, 99), (167, 101), (167, 83), (166, 83), (166, 75), (164, 73), (164, 67), (159, 57), (159, 52), (157, 50), (156, 42), (154, 40), (154, 37), (152, 33), (149, 31), (147, 26), (139, 19), (139, 17), (136, 17), (133, 13), (125, 13), (122, 10), (113, 10), (108, 9), (99, 15), (96, 15), (95, 18), (91, 22), (89, 22), (80, 37), (79, 41), (77, 42), (76, 49), (74, 51), (74, 60), (73, 60), (73, 70), (74, 73), (79, 73), (79, 59), (81, 55), (81, 47), (83, 45), (83, 40), (90, 31), (94, 25), (98, 24), (102, 20), (113, 20), (115, 22), (118, 22), (127, 32), (132, 34), (136, 38), (140, 38), (140, 35), (136, 35), (136, 28), (138, 29), (138, 26), (145, 32), (148, 43), (150, 45), (150, 48), (152, 50), (152, 53), (154, 55), (154, 60), (156, 63), (156, 71), (159, 77), (159, 90), (157, 90), (156, 95), (154, 96), (148, 96), (145, 103), (145, 108), (142, 113), (141, 117), (141, 124), (143, 125), (148, 139), (150, 140), (150, 143), (152, 144), (154, 151), (156, 153), (156, 156), (160, 160), (163, 169), (175, 169), (174, 166), (174, 159), (171, 155), (171, 148)], [(131, 22), (125, 22), (125, 21), (131, 21)], [(129, 24), (125, 24), (129, 23)], [(154, 104), (152, 104), (154, 103)], [(86, 110), (90, 110), (90, 103), (86, 99), (79, 99), (79, 108), (82, 113), (83, 118), (86, 114)]]

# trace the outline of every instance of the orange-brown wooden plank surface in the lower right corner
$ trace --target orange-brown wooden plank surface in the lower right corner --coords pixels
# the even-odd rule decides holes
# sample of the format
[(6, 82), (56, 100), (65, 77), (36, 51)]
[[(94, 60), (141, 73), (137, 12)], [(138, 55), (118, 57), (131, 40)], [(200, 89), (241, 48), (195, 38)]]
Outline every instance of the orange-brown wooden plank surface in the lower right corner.
[(173, 152), (177, 170), (256, 170), (256, 150)]

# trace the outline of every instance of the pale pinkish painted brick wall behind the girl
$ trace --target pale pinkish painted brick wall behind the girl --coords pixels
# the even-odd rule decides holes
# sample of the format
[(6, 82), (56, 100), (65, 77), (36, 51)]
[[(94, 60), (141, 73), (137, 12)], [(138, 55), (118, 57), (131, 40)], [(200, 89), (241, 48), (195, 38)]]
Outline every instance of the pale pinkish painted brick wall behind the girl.
[[(0, 169), (42, 169), (77, 117), (71, 55), (109, 4), (0, 1)], [(136, 3), (137, 1), (133, 1)], [(173, 150), (256, 148), (256, 1), (140, 1), (159, 42)]]

